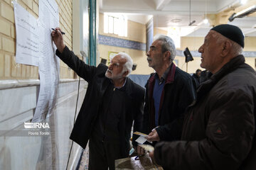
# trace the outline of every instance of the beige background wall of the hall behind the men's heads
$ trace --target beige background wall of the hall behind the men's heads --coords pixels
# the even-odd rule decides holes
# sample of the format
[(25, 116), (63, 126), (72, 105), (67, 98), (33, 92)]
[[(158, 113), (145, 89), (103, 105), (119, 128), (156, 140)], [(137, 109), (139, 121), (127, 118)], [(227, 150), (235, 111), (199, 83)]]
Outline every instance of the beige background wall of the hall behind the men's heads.
[[(214, 18), (215, 16), (211, 16)], [(116, 38), (118, 37), (114, 34), (105, 34), (103, 33), (104, 28), (104, 21), (103, 21), (103, 14), (100, 13), (100, 31), (99, 33), (102, 35), (108, 35)], [(166, 30), (162, 30), (159, 28), (154, 28), (154, 35), (156, 34), (164, 34), (167, 35)], [(146, 26), (141, 23), (135, 23), (133, 21), (128, 22), (128, 37), (123, 38), (126, 40), (134, 40), (138, 42), (146, 42)], [(189, 48), (191, 51), (197, 51), (198, 48), (203, 44), (203, 37), (182, 37), (181, 38), (181, 47), (177, 50), (184, 50), (186, 47)], [(99, 52), (100, 57), (107, 59), (108, 52), (127, 52), (131, 55), (134, 63), (137, 64), (137, 69), (132, 72), (132, 74), (150, 74), (154, 72), (154, 69), (148, 67), (148, 63), (146, 62), (146, 52), (141, 50), (131, 50), (122, 47), (113, 47), (108, 45), (99, 45)], [(255, 37), (246, 37), (245, 38), (245, 49), (244, 51), (256, 51), (256, 38)], [(203, 69), (200, 67), (201, 64), (201, 57), (193, 57), (192, 62), (188, 62), (188, 73), (196, 72), (196, 69)], [(176, 56), (175, 60), (178, 60), (178, 67), (183, 69), (186, 72), (186, 63), (185, 57)], [(245, 57), (245, 62), (250, 64), (252, 68), (255, 69), (255, 57)]]

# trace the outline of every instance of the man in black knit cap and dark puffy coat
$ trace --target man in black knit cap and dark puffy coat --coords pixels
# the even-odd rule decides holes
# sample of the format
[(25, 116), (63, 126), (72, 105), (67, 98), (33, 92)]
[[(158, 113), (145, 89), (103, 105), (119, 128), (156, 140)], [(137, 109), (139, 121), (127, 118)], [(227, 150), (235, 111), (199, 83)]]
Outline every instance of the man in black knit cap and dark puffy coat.
[(213, 75), (188, 107), (181, 141), (159, 142), (150, 153), (164, 169), (256, 169), (256, 74), (241, 55), (240, 28), (210, 30), (199, 48)]

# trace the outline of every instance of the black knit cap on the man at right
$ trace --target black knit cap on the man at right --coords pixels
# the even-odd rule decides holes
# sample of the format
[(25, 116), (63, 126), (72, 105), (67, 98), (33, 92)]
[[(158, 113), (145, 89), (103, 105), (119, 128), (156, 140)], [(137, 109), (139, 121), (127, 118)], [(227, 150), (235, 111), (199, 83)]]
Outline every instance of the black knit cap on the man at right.
[(237, 26), (221, 24), (211, 28), (210, 30), (215, 30), (226, 38), (237, 42), (242, 47), (245, 47), (245, 36), (243, 35), (242, 30)]

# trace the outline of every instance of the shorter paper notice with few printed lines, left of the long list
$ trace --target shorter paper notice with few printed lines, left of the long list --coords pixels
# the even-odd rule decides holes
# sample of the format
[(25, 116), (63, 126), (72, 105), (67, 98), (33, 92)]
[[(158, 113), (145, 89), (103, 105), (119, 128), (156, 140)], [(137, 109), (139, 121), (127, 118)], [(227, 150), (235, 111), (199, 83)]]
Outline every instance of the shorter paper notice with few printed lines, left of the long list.
[(16, 1), (13, 2), (16, 27), (16, 62), (38, 66), (40, 56), (38, 20)]

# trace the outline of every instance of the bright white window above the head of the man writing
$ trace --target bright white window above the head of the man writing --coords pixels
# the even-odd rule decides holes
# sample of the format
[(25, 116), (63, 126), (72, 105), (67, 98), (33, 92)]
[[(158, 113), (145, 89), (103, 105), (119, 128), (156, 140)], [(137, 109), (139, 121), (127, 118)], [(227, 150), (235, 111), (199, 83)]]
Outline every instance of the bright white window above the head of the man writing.
[(104, 33), (127, 37), (127, 17), (117, 13), (104, 13)]

